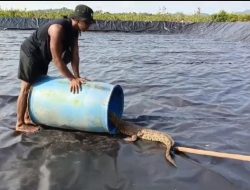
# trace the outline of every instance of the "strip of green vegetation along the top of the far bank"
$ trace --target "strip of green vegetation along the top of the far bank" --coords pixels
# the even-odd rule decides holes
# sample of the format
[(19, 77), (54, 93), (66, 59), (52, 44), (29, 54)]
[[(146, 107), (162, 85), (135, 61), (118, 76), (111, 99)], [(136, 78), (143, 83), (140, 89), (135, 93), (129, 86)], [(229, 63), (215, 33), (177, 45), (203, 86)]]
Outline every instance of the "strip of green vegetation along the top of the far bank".
[[(73, 10), (49, 9), (49, 10), (2, 10), (0, 9), (0, 18), (45, 18), (57, 19), (63, 16), (69, 16)], [(183, 13), (170, 14), (165, 11), (157, 14), (148, 13), (108, 13), (95, 11), (94, 18), (96, 20), (106, 21), (168, 21), (168, 22), (237, 22), (250, 21), (250, 14), (232, 14), (225, 11), (220, 11), (217, 14), (208, 15), (200, 13), (200, 9), (193, 15), (185, 15)]]

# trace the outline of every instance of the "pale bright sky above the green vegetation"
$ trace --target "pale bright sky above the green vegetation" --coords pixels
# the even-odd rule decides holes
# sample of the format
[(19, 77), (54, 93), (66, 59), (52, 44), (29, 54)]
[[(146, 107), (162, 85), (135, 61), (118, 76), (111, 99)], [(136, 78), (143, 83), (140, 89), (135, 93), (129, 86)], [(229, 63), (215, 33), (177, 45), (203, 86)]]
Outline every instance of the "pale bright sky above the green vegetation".
[(157, 13), (165, 12), (194, 14), (200, 8), (201, 13), (242, 12), (250, 9), (250, 1), (0, 1), (0, 8), (19, 10), (58, 9), (66, 7), (74, 9), (78, 4), (85, 4), (94, 11), (102, 10), (110, 13)]

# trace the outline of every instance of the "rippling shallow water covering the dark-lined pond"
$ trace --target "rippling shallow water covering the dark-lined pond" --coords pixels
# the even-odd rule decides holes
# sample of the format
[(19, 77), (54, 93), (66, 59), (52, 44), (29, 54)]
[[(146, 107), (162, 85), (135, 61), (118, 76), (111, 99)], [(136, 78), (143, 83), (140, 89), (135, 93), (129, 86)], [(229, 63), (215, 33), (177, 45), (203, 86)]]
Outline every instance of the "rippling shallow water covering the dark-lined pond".
[[(0, 31), (0, 189), (249, 189), (250, 162), (175, 154), (149, 141), (44, 129), (17, 135), (19, 48)], [(82, 34), (80, 71), (120, 84), (123, 118), (177, 144), (250, 155), (250, 45), (192, 35)], [(49, 75), (59, 76), (50, 64)]]

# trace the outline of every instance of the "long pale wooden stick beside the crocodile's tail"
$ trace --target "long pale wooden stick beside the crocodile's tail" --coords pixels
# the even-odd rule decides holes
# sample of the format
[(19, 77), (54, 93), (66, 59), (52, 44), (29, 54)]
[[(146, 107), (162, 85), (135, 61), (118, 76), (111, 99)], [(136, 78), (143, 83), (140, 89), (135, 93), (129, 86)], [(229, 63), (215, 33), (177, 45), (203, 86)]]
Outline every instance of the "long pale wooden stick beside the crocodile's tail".
[(200, 150), (194, 148), (187, 148), (187, 147), (174, 147), (175, 150), (180, 152), (186, 152), (191, 154), (199, 154), (199, 155), (206, 155), (206, 156), (214, 156), (220, 158), (230, 158), (235, 160), (242, 160), (250, 162), (250, 156), (240, 155), (240, 154), (229, 154), (223, 152), (215, 152), (215, 151), (208, 151), (208, 150)]

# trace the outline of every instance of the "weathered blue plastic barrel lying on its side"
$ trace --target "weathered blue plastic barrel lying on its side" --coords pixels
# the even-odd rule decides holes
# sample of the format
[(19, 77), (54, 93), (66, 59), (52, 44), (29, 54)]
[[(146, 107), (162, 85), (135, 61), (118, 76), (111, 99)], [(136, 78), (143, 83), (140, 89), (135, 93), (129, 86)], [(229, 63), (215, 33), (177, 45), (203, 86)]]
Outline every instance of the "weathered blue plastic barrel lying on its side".
[(61, 77), (41, 77), (32, 85), (28, 110), (34, 123), (89, 132), (118, 130), (108, 119), (114, 112), (122, 117), (124, 94), (120, 85), (88, 81), (78, 94), (70, 92), (70, 82)]

